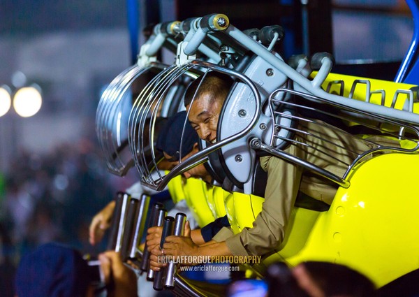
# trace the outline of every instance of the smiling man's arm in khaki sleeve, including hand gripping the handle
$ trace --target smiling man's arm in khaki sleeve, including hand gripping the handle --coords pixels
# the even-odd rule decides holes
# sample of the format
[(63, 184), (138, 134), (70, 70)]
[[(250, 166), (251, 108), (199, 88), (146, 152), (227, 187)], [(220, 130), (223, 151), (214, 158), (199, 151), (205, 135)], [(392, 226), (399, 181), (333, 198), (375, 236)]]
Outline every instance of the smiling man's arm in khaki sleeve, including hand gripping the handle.
[(163, 253), (171, 256), (253, 256), (263, 255), (277, 247), (284, 238), (300, 187), (302, 169), (276, 157), (266, 157), (265, 168), (268, 173), (265, 202), (253, 228), (243, 229), (226, 241), (211, 241), (201, 246), (195, 245), (187, 236), (169, 236), (163, 252), (154, 249), (153, 265), (161, 267), (157, 255)]

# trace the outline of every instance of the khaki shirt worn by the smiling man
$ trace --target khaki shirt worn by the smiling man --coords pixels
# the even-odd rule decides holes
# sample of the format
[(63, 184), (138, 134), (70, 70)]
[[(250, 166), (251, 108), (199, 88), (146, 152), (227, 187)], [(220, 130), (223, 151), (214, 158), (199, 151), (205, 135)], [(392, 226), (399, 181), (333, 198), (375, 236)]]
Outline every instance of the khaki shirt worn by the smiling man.
[[(338, 133), (318, 124), (303, 122), (298, 128), (329, 141), (298, 132), (295, 133), (294, 139), (309, 146), (292, 144), (284, 151), (339, 177), (344, 175), (348, 165), (358, 154), (372, 148), (372, 145), (367, 145), (358, 138), (348, 137), (346, 133)], [(328, 154), (318, 152), (315, 147)], [(338, 159), (347, 165), (341, 164)], [(243, 229), (242, 232), (226, 239), (226, 244), (234, 255), (263, 255), (278, 247), (284, 239), (286, 224), (298, 191), (328, 204), (332, 203), (337, 191), (337, 184), (284, 159), (261, 157), (260, 165), (267, 171), (263, 208), (252, 228)], [(226, 233), (225, 230), (221, 232)]]

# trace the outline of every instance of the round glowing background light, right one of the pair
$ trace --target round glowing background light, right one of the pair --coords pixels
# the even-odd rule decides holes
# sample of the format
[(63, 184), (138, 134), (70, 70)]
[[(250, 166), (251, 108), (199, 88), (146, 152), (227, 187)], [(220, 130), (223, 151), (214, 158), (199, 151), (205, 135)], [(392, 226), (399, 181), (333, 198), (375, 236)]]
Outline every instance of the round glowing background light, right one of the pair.
[(22, 87), (13, 98), (13, 108), (21, 117), (31, 117), (38, 113), (42, 106), (41, 92), (36, 87)]

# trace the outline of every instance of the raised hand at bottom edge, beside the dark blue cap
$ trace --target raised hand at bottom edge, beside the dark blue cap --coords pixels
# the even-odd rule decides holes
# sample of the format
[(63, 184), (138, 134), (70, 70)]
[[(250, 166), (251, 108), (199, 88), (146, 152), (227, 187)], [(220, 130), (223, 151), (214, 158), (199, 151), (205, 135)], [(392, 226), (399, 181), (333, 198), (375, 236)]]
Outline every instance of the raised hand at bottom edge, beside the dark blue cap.
[(122, 263), (121, 255), (108, 251), (98, 256), (110, 297), (137, 297), (137, 277)]

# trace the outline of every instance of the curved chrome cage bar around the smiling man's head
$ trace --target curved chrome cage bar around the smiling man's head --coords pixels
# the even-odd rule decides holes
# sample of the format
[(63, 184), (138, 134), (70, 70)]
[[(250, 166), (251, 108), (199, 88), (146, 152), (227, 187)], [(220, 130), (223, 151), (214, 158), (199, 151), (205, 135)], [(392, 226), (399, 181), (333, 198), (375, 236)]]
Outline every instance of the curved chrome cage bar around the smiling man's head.
[[(159, 107), (163, 102), (164, 95), (170, 87), (170, 84), (175, 82), (176, 79), (186, 73), (186, 71), (191, 71), (191, 68), (206, 68), (207, 71), (224, 73), (240, 80), (240, 82), (244, 82), (254, 96), (256, 113), (253, 115), (249, 125), (239, 133), (235, 133), (233, 136), (206, 147), (204, 150), (194, 154), (185, 161), (180, 161), (179, 164), (168, 173), (168, 175), (162, 176), (159, 173), (159, 178), (154, 180), (152, 177), (152, 171), (157, 168), (158, 160), (156, 160), (154, 146), (152, 145), (149, 147), (149, 144), (154, 143), (156, 140), (154, 138), (154, 126), (156, 125), (156, 118), (159, 116)], [(223, 145), (232, 143), (249, 133), (258, 121), (259, 115), (260, 94), (254, 82), (247, 78), (246, 75), (230, 68), (199, 60), (191, 61), (190, 63), (182, 66), (172, 66), (168, 68), (166, 71), (163, 71), (160, 75), (156, 76), (155, 80), (149, 82), (147, 87), (143, 89), (142, 94), (140, 94), (140, 96), (138, 96), (138, 100), (135, 101), (133, 112), (130, 115), (129, 126), (131, 129), (131, 152), (135, 156), (135, 166), (138, 168), (138, 172), (140, 173), (141, 182), (152, 189), (157, 189), (159, 191), (164, 189), (168, 182), (176, 175), (179, 175), (184, 171), (188, 171), (191, 167), (196, 166), (196, 164), (202, 163), (205, 161), (207, 156), (215, 150), (219, 150), (219, 148), (223, 147)], [(149, 119), (149, 126), (147, 126), (146, 119)], [(146, 133), (146, 131), (148, 133)], [(135, 139), (135, 141), (133, 141), (133, 139)], [(150, 148), (151, 160), (146, 157), (145, 149), (148, 147)]]

